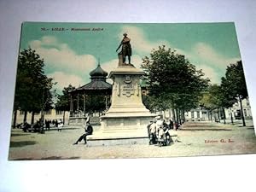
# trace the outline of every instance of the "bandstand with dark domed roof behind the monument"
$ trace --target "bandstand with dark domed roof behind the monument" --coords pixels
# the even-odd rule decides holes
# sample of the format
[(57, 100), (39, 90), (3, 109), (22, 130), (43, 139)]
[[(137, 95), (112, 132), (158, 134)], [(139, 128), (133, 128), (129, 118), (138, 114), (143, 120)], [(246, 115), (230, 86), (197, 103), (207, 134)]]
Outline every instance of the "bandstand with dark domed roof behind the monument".
[[(109, 108), (111, 101), (112, 84), (106, 81), (107, 76), (108, 73), (98, 64), (96, 69), (90, 72), (89, 84), (70, 91), (69, 125), (82, 126), (88, 118), (90, 118), (90, 124), (100, 124), (100, 116)], [(99, 106), (99, 101), (104, 102), (104, 105)], [(76, 108), (73, 108), (74, 102), (76, 102)]]

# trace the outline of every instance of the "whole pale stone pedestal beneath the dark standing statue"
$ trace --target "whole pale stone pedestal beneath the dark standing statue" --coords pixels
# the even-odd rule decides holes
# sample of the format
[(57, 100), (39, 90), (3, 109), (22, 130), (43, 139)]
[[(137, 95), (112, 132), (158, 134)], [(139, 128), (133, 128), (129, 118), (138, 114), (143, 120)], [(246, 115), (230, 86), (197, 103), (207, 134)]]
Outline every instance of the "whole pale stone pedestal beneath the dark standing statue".
[(111, 107), (101, 117), (100, 131), (88, 137), (89, 144), (92, 141), (108, 144), (110, 140), (116, 144), (142, 143), (140, 140), (148, 139), (147, 125), (156, 115), (143, 105), (142, 75), (143, 71), (131, 64), (119, 65), (109, 73), (109, 78), (113, 79)]

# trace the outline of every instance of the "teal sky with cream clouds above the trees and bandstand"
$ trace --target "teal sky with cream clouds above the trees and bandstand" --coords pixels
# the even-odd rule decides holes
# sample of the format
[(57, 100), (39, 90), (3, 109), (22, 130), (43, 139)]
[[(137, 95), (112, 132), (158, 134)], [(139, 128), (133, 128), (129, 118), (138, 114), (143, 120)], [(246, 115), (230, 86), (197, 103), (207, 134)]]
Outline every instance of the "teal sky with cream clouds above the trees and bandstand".
[[(64, 28), (53, 31), (52, 28)], [(48, 30), (42, 30), (42, 28)], [(83, 31), (72, 31), (72, 28)], [(93, 31), (93, 28), (100, 29)], [(25, 22), (20, 50), (31, 47), (44, 58), (44, 72), (54, 78), (57, 90), (68, 84), (78, 87), (90, 82), (89, 73), (101, 66), (108, 73), (118, 66), (115, 49), (123, 33), (131, 38), (131, 63), (136, 67), (142, 58), (159, 45), (177, 50), (202, 69), (212, 84), (220, 84), (230, 63), (241, 60), (235, 24), (122, 24), (122, 23), (44, 23)]]

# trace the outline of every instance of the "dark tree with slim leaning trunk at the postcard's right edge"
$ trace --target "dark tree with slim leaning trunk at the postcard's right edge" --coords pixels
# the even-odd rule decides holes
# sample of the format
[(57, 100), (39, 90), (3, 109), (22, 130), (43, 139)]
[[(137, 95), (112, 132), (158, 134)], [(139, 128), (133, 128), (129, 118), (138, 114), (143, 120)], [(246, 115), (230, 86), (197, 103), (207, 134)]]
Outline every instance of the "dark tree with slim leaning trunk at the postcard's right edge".
[(227, 67), (221, 85), (224, 90), (224, 96), (229, 98), (230, 104), (234, 104), (237, 101), (240, 103), (242, 125), (246, 126), (241, 101), (248, 96), (248, 93), (241, 61), (237, 61), (236, 64), (230, 64)]

